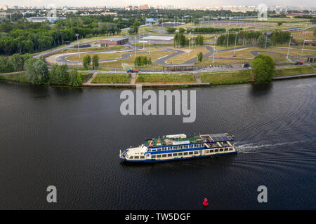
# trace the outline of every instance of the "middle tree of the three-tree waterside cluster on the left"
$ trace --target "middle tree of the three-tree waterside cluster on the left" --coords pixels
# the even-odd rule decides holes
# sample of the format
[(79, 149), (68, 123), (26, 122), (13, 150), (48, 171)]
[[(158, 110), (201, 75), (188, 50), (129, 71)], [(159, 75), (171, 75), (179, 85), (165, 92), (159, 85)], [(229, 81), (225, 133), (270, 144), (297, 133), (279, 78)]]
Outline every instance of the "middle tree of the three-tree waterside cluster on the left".
[(65, 85), (69, 82), (68, 67), (66, 64), (53, 64), (49, 72), (49, 80), (53, 84)]

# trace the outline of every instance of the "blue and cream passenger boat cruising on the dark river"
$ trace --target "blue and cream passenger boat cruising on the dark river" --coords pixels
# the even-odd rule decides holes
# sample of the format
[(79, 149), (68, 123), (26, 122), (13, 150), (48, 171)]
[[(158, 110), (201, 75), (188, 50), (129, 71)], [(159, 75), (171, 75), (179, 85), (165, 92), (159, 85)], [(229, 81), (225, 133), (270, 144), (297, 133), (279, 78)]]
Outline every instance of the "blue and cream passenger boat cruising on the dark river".
[(225, 134), (171, 134), (146, 139), (141, 146), (119, 151), (119, 159), (128, 162), (160, 162), (212, 157), (237, 153), (235, 136)]

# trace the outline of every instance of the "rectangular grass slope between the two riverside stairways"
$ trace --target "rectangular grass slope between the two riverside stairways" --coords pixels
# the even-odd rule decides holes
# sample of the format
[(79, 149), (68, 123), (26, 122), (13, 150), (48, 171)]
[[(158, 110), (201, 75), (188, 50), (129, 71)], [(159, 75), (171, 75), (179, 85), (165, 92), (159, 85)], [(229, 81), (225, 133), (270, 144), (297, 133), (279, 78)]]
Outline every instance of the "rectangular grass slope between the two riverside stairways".
[(175, 74), (150, 74), (139, 73), (136, 76), (136, 83), (195, 83), (192, 73)]

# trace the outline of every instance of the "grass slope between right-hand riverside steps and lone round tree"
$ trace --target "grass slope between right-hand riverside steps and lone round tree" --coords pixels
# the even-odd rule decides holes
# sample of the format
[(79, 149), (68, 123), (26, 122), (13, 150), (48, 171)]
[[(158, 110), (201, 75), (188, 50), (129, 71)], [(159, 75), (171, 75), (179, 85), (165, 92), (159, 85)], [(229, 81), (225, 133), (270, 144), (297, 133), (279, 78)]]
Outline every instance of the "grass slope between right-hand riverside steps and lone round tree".
[(250, 70), (199, 73), (199, 78), (211, 85), (249, 83), (252, 80)]

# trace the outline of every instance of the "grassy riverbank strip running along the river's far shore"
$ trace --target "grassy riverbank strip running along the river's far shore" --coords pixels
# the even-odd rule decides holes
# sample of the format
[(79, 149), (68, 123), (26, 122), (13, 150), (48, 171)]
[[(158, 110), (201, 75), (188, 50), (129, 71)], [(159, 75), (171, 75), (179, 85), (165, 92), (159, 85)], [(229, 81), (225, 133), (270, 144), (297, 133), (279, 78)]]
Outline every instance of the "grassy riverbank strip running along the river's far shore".
[[(279, 67), (276, 76), (272, 80), (284, 80), (290, 78), (315, 77), (315, 68), (312, 66)], [(298, 73), (300, 72), (300, 73)], [(93, 75), (93, 76), (92, 76)], [(251, 70), (238, 71), (214, 71), (192, 73), (81, 73), (82, 84), (79, 87), (114, 87), (134, 88), (143, 85), (149, 88), (160, 87), (206, 87), (212, 85), (232, 85), (254, 83)], [(29, 83), (25, 72), (6, 73), (0, 76), (0, 80), (18, 83)], [(49, 84), (48, 84), (49, 85)], [(72, 85), (65, 85), (72, 87)]]

